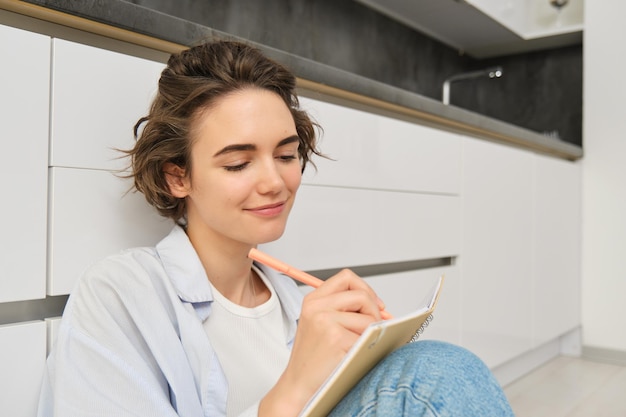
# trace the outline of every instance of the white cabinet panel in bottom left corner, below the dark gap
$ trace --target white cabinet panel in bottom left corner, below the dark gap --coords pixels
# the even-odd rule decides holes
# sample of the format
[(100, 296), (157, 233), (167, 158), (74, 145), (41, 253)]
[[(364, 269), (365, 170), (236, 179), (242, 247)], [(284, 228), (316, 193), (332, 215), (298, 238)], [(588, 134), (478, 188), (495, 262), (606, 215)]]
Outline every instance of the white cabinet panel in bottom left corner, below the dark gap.
[(43, 321), (0, 326), (0, 404), (2, 415), (37, 414), (41, 378), (46, 363)]

